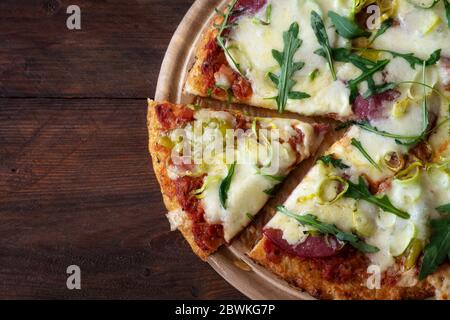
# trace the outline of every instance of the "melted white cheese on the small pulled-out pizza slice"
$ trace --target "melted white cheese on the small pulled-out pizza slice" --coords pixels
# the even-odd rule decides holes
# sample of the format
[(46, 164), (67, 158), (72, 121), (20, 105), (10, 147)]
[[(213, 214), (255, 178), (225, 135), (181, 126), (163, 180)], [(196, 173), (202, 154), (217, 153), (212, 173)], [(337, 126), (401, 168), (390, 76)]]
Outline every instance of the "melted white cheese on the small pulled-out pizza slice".
[[(201, 161), (188, 171), (170, 165), (168, 174), (172, 180), (183, 175), (206, 175), (204, 190), (197, 194), (205, 210), (205, 220), (222, 224), (224, 238), (230, 241), (267, 202), (267, 191), (280, 183), (276, 177), (286, 176), (297, 161), (309, 157), (318, 138), (310, 124), (289, 119), (258, 118), (261, 128), (258, 140), (252, 130), (242, 132), (237, 135), (237, 142), (234, 143), (233, 138), (233, 143), (225, 150), (223, 129), (232, 128), (236, 124), (235, 117), (225, 111), (201, 109), (195, 112), (194, 118), (195, 121), (187, 125), (182, 134), (174, 130), (169, 137), (176, 143), (174, 150), (181, 153), (187, 146), (191, 156)], [(303, 133), (303, 140), (297, 150), (293, 150), (289, 140), (299, 134), (297, 130)], [(262, 135), (266, 135), (265, 132), (273, 135), (274, 139), (271, 141), (270, 136), (264, 139)], [(234, 161), (237, 164), (224, 208), (219, 197), (220, 184)], [(167, 217), (173, 227), (181, 223), (178, 211), (170, 212)]]

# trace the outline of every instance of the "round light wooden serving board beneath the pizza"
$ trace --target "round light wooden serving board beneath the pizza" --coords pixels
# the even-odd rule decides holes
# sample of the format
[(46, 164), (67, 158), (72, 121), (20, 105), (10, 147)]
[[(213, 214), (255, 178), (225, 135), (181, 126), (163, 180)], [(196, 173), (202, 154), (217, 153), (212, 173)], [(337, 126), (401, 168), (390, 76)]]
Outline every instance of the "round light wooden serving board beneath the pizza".
[[(183, 86), (190, 67), (195, 59), (195, 50), (202, 32), (207, 28), (215, 14), (214, 8), (223, 8), (227, 1), (223, 0), (197, 0), (188, 11), (183, 21), (176, 30), (159, 74), (156, 88), (156, 101), (170, 101), (173, 103), (208, 103), (218, 108), (237, 108), (250, 115), (290, 117), (304, 121), (312, 119), (300, 117), (294, 114), (280, 115), (274, 111), (256, 109), (248, 106), (224, 106), (223, 103), (208, 99), (199, 99), (183, 92)], [(321, 119), (313, 119), (322, 121)], [(329, 122), (329, 121), (325, 121)], [(328, 137), (317, 156), (303, 162), (300, 168), (293, 171), (284, 183), (281, 194), (263, 208), (258, 218), (247, 230), (245, 230), (231, 245), (222, 247), (216, 254), (208, 259), (208, 263), (231, 285), (251, 299), (313, 299), (310, 295), (294, 288), (261, 266), (255, 264), (246, 253), (260, 237), (262, 226), (273, 215), (275, 204), (283, 203), (290, 192), (301, 181), (302, 177), (315, 162), (315, 159), (335, 140)]]

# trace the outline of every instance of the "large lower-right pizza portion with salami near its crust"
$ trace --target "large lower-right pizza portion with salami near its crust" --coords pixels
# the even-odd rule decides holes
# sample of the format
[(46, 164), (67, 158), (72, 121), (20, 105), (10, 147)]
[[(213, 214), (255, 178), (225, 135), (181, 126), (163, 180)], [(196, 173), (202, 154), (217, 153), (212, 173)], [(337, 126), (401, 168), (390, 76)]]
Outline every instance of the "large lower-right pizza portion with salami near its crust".
[(434, 150), (398, 140), (421, 131), (412, 118), (400, 125), (408, 116), (390, 122), (396, 135), (379, 129), (386, 120), (379, 128), (351, 127), (277, 207), (250, 257), (318, 298), (448, 297), (450, 159), (448, 147), (442, 150), (442, 112)]

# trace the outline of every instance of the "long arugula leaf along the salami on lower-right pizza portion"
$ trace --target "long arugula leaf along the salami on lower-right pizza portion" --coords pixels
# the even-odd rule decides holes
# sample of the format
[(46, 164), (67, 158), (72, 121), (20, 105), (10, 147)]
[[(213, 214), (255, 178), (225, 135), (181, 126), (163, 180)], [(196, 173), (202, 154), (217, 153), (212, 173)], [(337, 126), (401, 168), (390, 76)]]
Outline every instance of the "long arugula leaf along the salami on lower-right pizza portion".
[(348, 242), (352, 247), (364, 253), (375, 253), (380, 251), (380, 249), (365, 243), (353, 233), (343, 232), (339, 230), (336, 225), (321, 222), (316, 216), (313, 216), (311, 214), (298, 215), (290, 212), (284, 206), (277, 206), (276, 210), (278, 212), (281, 212), (282, 214), (287, 215), (288, 217), (297, 220), (302, 225), (313, 227), (322, 234), (334, 235), (338, 240)]

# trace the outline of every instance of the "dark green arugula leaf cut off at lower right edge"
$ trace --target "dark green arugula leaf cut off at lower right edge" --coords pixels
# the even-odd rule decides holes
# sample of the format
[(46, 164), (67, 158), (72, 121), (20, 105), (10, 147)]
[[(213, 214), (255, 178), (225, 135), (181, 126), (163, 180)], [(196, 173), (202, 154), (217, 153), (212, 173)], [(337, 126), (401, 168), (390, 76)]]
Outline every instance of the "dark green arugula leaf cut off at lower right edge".
[(433, 235), (424, 249), (420, 280), (434, 273), (450, 254), (450, 217), (432, 220), (430, 224)]

